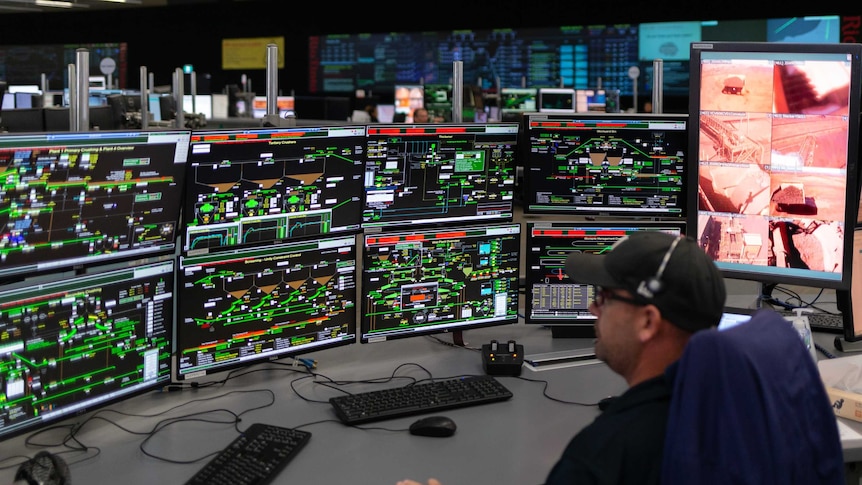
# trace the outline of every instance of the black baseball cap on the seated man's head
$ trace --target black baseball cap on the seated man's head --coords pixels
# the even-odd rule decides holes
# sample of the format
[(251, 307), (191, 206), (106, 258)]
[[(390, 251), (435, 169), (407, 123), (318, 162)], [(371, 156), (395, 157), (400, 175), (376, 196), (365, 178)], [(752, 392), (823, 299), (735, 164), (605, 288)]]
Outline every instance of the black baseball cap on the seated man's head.
[(632, 233), (604, 254), (570, 253), (566, 275), (628, 290), (691, 332), (717, 326), (727, 297), (721, 272), (694, 239), (660, 231)]

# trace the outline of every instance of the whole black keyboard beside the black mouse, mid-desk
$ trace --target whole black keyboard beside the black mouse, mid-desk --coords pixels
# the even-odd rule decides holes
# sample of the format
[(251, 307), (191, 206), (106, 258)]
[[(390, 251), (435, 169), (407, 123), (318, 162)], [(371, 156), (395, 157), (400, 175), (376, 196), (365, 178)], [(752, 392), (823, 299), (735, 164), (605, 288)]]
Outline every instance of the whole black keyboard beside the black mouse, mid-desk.
[(512, 392), (489, 375), (455, 377), (329, 399), (345, 424), (426, 414), (444, 409), (505, 401)]

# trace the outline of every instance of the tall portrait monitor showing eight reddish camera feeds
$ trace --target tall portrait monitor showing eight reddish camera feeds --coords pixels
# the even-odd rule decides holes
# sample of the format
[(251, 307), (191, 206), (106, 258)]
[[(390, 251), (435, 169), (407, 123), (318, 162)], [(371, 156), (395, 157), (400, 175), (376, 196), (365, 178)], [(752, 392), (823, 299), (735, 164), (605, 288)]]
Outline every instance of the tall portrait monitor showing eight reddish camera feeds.
[(688, 227), (725, 276), (850, 288), (860, 56), (860, 44), (692, 44)]

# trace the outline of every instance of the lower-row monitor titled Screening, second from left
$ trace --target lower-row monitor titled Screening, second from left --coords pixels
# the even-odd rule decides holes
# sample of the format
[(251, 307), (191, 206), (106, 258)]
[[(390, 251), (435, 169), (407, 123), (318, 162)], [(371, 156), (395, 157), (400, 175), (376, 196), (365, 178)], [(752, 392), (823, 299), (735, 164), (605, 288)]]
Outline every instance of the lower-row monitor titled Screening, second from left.
[(176, 377), (356, 342), (355, 234), (180, 255)]

